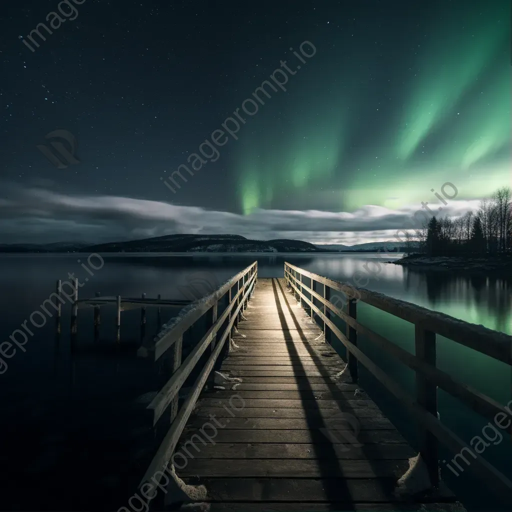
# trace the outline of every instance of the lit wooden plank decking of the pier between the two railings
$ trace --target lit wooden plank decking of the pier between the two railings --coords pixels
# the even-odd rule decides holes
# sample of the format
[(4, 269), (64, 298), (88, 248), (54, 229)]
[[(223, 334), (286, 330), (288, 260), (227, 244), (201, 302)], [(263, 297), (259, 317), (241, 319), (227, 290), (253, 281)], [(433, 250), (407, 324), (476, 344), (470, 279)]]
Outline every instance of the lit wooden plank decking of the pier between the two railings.
[[(348, 372), (339, 375), (345, 362), (285, 281), (259, 280), (243, 315), (239, 348), (221, 367), (242, 382), (201, 394), (177, 446), (193, 457), (180, 477), (199, 477), (212, 510), (403, 507), (393, 492), (416, 453)], [(193, 439), (197, 452), (187, 441), (210, 415), (222, 426), (214, 423), (215, 444)], [(442, 494), (430, 501), (454, 509)]]

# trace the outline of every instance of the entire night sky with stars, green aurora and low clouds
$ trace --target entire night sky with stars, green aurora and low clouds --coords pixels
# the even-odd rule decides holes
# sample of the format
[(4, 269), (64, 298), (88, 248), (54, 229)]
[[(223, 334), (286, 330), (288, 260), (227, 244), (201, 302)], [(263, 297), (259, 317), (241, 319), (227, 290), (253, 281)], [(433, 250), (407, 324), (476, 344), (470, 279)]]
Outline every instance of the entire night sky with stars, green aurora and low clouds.
[[(355, 244), (437, 210), (445, 182), (443, 215), (511, 183), (509, 0), (80, 2), (75, 19), (57, 0), (2, 6), (0, 242)], [(276, 90), (244, 113), (264, 80)], [(36, 147), (54, 130), (79, 163)], [(161, 178), (181, 164), (194, 175), (173, 193)]]

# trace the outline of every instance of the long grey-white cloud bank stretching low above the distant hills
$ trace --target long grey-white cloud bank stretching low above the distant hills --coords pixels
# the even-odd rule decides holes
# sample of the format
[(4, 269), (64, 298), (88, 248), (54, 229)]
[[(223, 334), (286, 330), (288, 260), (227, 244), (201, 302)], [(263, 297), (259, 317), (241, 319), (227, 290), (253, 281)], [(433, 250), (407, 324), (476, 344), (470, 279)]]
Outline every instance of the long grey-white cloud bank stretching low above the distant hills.
[[(440, 215), (463, 215), (479, 200), (452, 200)], [(429, 205), (437, 211), (438, 205)], [(119, 196), (59, 194), (47, 188), (16, 189), (0, 200), (0, 242), (89, 243), (172, 233), (240, 234), (268, 240), (356, 244), (387, 240), (421, 205), (399, 209), (366, 205), (354, 212), (257, 208), (250, 215)], [(424, 210), (423, 210), (424, 211)]]

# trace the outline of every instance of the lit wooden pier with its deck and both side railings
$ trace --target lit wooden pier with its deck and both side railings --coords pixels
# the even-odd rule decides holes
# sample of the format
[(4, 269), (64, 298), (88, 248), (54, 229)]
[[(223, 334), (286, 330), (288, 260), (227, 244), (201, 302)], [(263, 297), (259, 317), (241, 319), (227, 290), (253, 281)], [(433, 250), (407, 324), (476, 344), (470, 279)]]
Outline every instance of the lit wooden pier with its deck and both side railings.
[[(508, 418), (510, 411), (436, 368), (436, 333), (508, 365), (512, 337), (287, 263), (284, 279), (258, 280), (257, 274), (255, 262), (144, 348), (155, 360), (172, 355), (170, 378), (148, 406), (155, 428), (171, 411), (170, 429), (139, 486), (150, 506), (463, 510), (440, 481), (438, 443), (454, 454), (467, 445), (438, 419), (437, 388), (487, 418)], [(346, 297), (345, 307), (334, 292)], [(412, 322), (416, 354), (358, 323), (359, 300)], [(182, 360), (183, 336), (202, 317), (206, 332)], [(335, 317), (346, 323), (346, 333)], [(401, 389), (361, 352), (358, 333), (416, 372), (416, 392)], [(347, 348), (347, 361), (331, 347), (334, 336)], [(419, 454), (360, 389), (359, 365), (416, 420)], [(178, 408), (178, 392), (196, 366), (198, 377)], [(404, 494), (397, 484), (410, 466), (423, 472), (423, 483), (426, 474), (426, 485)], [(469, 470), (509, 502), (512, 483), (480, 455)]]

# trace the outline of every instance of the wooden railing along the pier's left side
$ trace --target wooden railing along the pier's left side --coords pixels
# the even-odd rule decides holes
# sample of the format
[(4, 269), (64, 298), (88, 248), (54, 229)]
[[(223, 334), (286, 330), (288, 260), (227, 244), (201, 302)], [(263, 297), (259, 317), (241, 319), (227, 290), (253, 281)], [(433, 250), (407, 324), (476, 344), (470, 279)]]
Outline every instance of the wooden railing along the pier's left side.
[[(228, 344), (230, 342), (233, 326), (236, 327), (238, 325), (239, 317), (247, 306), (257, 278), (258, 262), (254, 262), (234, 275), (215, 292), (185, 308), (184, 313), (178, 317), (176, 323), (152, 347), (141, 347), (139, 350), (139, 355), (151, 355), (155, 361), (167, 351), (172, 351), (170, 354), (172, 376), (147, 406), (148, 411), (151, 412), (153, 417), (153, 425), (156, 425), (159, 420), (163, 421), (162, 414), (167, 408), (170, 408), (170, 425), (168, 425), (170, 429), (165, 435), (150, 466), (147, 468), (140, 482), (140, 487), (145, 483), (153, 485), (155, 481), (160, 481), (162, 472), (173, 456), (176, 444), (190, 413), (194, 409), (201, 390), (205, 385), (214, 385), (216, 361), (226, 339), (228, 339)], [(228, 305), (224, 312), (218, 316), (218, 303), (226, 294), (228, 294)], [(182, 362), (183, 335), (205, 315), (209, 324), (208, 329)], [(224, 324), (226, 326), (221, 332)], [(194, 370), (201, 356), (208, 348), (210, 350), (208, 359), (178, 411), (178, 393), (186, 378)], [(166, 418), (167, 416), (165, 420)]]

